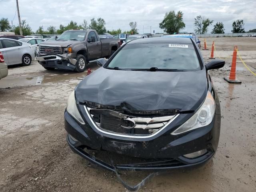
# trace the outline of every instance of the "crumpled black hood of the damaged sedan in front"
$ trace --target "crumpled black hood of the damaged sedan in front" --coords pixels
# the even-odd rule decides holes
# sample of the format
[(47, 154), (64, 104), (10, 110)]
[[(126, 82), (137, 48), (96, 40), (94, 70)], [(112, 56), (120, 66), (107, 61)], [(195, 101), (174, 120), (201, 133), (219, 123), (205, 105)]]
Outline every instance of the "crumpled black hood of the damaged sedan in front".
[(76, 87), (76, 100), (130, 110), (196, 110), (207, 94), (206, 71), (150, 72), (110, 70), (103, 67)]

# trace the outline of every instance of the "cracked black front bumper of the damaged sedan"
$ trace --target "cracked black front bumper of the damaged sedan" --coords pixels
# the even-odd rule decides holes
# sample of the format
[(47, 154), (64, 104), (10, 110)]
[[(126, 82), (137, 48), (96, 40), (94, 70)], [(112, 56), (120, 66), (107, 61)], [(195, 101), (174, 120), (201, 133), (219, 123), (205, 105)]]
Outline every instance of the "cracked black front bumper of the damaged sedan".
[[(80, 108), (80, 110), (82, 107)], [(82, 112), (83, 113), (83, 112)], [(168, 170), (202, 166), (215, 154), (220, 135), (220, 115), (215, 114), (212, 123), (180, 135), (171, 135), (186, 116), (181, 114), (170, 126), (152, 138), (121, 138), (102, 134), (96, 130), (88, 117), (84, 116), (85, 125), (81, 125), (65, 112), (65, 129), (68, 132), (67, 141), (70, 148), (83, 158), (94, 164), (114, 171), (114, 168), (124, 170)], [(73, 138), (73, 139), (72, 139)], [(100, 160), (83, 149), (102, 150), (126, 156), (143, 158), (144, 164), (109, 164)], [(185, 158), (183, 155), (207, 149), (207, 153), (197, 158)]]

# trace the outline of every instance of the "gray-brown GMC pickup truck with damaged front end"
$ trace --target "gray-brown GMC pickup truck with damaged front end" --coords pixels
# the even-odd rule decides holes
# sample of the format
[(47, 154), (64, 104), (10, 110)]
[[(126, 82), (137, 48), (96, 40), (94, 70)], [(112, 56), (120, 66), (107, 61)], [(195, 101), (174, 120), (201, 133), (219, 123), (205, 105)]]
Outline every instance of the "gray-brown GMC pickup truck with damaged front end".
[(109, 57), (119, 47), (120, 39), (100, 39), (96, 30), (67, 30), (55, 41), (39, 44), (36, 60), (47, 70), (84, 72), (88, 62)]

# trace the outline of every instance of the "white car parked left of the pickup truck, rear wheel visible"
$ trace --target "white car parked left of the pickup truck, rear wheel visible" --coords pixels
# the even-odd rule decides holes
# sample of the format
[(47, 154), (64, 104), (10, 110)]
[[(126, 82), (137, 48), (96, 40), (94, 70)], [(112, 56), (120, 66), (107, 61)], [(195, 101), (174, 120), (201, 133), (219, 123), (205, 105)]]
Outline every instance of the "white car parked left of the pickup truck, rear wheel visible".
[(22, 64), (28, 66), (35, 60), (35, 52), (30, 44), (14, 39), (1, 38), (0, 52), (7, 65)]

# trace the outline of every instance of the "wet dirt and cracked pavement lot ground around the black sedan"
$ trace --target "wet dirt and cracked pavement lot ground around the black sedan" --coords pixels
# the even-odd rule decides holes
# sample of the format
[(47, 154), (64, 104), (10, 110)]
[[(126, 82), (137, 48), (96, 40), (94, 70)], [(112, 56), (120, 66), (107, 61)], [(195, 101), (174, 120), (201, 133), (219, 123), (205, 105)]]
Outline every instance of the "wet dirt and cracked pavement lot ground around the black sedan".
[[(201, 39), (203, 41), (203, 39)], [(215, 56), (227, 57), (238, 45), (248, 67), (256, 72), (256, 38), (207, 38), (215, 41)], [(202, 42), (203, 44), (203, 42)], [(205, 61), (210, 50), (202, 51)], [(241, 62), (237, 78), (228, 84), (232, 58), (211, 72), (221, 101), (218, 151), (206, 167), (156, 176), (142, 192), (256, 191), (256, 76)], [(96, 64), (90, 64), (95, 70)], [(88, 167), (66, 144), (66, 100), (84, 73), (47, 71), (37, 62), (9, 68), (0, 80), (0, 191), (126, 192), (111, 172)], [(131, 182), (140, 174), (131, 174)]]

